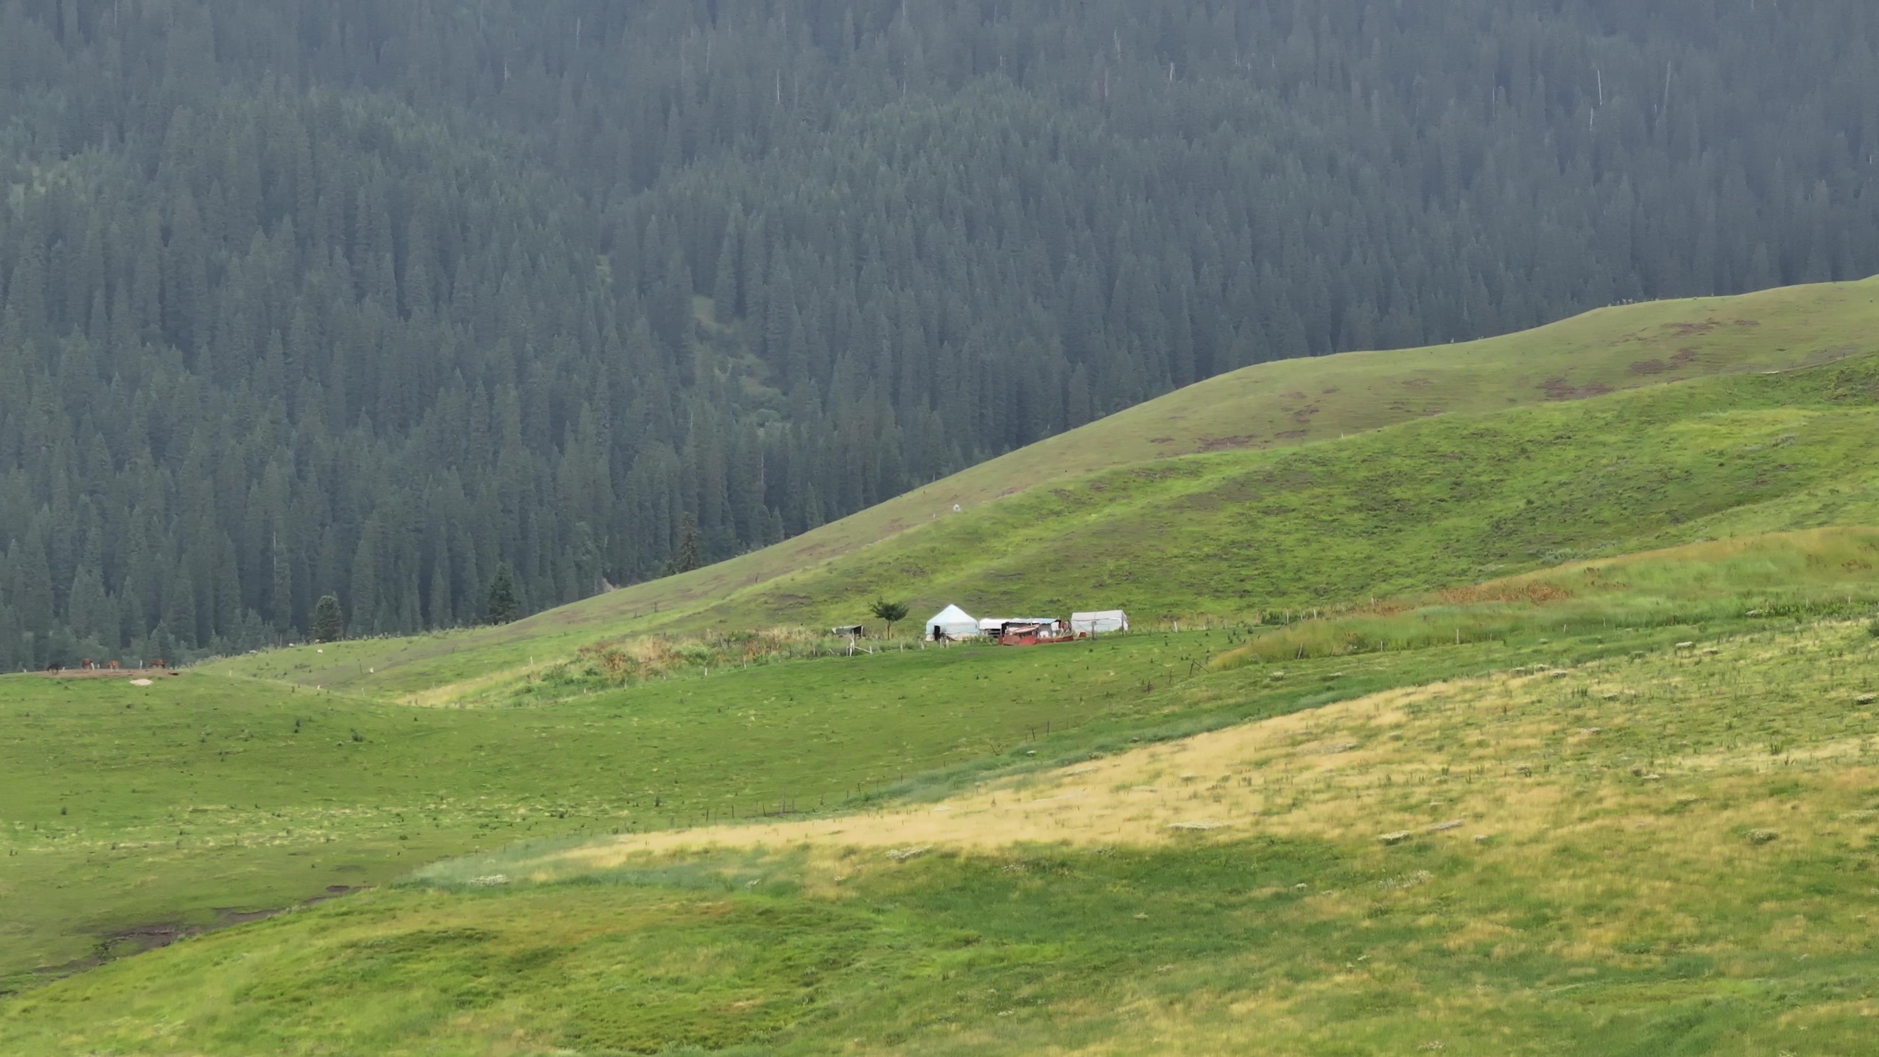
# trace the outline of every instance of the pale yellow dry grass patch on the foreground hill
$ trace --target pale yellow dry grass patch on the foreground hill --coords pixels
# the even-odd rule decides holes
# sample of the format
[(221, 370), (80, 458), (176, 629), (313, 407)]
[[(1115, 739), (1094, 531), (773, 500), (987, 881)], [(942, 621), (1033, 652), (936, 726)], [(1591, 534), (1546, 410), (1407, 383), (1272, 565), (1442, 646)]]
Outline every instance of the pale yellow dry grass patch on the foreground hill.
[[(1588, 688), (1575, 709), (1537, 700), (1569, 686)], [(1772, 767), (1753, 747), (1659, 758), (1629, 773), (1610, 762), (1563, 760), (1561, 752), (1595, 754), (1601, 739), (1638, 711), (1623, 692), (1605, 686), (1616, 683), (1588, 670), (1390, 690), (990, 782), (940, 805), (629, 835), (541, 865), (547, 876), (644, 854), (804, 844), (879, 848), (898, 861), (936, 846), (1165, 844), (1261, 833), (1362, 843), (1379, 843), (1385, 833), (1452, 843), (1545, 833), (1610, 848), (1674, 844), (1689, 856), (1704, 846), (1738, 852), (1742, 841), (1731, 831), (1744, 826), (1789, 824), (1781, 805), (1747, 799), (1727, 811), (1667, 814), (1680, 807), (1667, 777), (1751, 777)], [(1809, 747), (1808, 758), (1843, 765), (1860, 750), (1855, 737)]]

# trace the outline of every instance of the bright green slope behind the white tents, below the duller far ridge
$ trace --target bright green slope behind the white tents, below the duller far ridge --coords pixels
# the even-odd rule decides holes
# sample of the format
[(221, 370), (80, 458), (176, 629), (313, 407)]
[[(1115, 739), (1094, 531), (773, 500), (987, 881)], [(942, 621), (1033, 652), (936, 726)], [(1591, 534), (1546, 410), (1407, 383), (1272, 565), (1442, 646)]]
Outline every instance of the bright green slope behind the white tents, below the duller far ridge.
[[(1126, 607), (1139, 621), (1366, 602), (1738, 532), (1879, 521), (1879, 357), (1419, 419), (1032, 489), (737, 591), (663, 626)], [(552, 626), (552, 624), (537, 624)], [(417, 694), (573, 653), (575, 632), (282, 651), (235, 671)], [(481, 643), (481, 645), (477, 645)], [(460, 653), (453, 653), (460, 649)], [(349, 660), (359, 656), (359, 660)], [(376, 668), (376, 671), (372, 671)]]

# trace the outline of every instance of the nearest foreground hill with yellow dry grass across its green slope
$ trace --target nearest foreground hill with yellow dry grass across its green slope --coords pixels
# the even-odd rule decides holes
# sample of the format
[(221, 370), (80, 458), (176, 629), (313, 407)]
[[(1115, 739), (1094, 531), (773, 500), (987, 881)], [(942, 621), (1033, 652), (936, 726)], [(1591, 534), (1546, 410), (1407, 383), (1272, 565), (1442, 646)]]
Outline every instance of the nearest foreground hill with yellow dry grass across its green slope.
[[(0, 1048), (1862, 1053), (1875, 675), (1864, 624), (1789, 624), (994, 782), (956, 822), (520, 848), (34, 991)], [(1167, 826), (1199, 816), (1227, 826)], [(1018, 843), (906, 850), (943, 826)]]

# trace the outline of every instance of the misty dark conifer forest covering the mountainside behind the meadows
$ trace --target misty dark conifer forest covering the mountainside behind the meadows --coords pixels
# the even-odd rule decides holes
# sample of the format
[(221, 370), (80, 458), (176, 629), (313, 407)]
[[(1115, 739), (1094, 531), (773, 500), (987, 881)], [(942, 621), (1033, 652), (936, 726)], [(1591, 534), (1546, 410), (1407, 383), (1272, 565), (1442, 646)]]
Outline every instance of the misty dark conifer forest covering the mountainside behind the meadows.
[(524, 611), (1176, 386), (1879, 271), (1879, 15), (0, 0), (0, 664)]

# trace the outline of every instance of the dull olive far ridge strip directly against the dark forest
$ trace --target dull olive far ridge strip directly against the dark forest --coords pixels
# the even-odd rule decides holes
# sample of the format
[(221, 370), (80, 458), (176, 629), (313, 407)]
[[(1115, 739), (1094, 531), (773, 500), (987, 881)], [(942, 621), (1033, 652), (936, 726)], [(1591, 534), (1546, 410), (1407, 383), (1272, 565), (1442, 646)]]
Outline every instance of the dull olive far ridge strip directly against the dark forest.
[[(410, 694), (468, 673), (524, 668), (532, 656), (566, 655), (599, 638), (629, 632), (720, 626), (720, 621), (723, 626), (752, 626), (750, 621), (761, 623), (772, 613), (791, 621), (853, 621), (861, 592), (834, 600), (774, 581), (864, 553), (889, 570), (902, 568), (889, 589), (911, 583), (923, 598), (943, 598), (956, 594), (956, 585), (941, 583), (938, 576), (928, 576), (926, 566), (872, 545), (936, 521), (951, 527), (955, 504), (975, 513), (994, 498), (1112, 466), (1203, 451), (1283, 450), (1436, 414), (1479, 416), (1678, 378), (1787, 371), (1871, 352), (1875, 327), (1879, 278), (1627, 305), (1467, 344), (1266, 363), (1150, 401), (800, 538), (686, 576), (635, 585), (505, 628), (357, 645), (325, 664), (289, 655), (286, 662), (269, 658), (241, 670), (271, 677), (286, 671), (308, 685)], [(1761, 530), (1783, 527), (1770, 523)], [(1045, 532), (1030, 536), (1043, 540)], [(996, 594), (986, 598), (986, 604), (1002, 602)], [(1174, 606), (1174, 600), (1163, 604)], [(466, 662), (466, 655), (474, 660)], [(370, 670), (380, 670), (383, 677), (370, 677)]]

